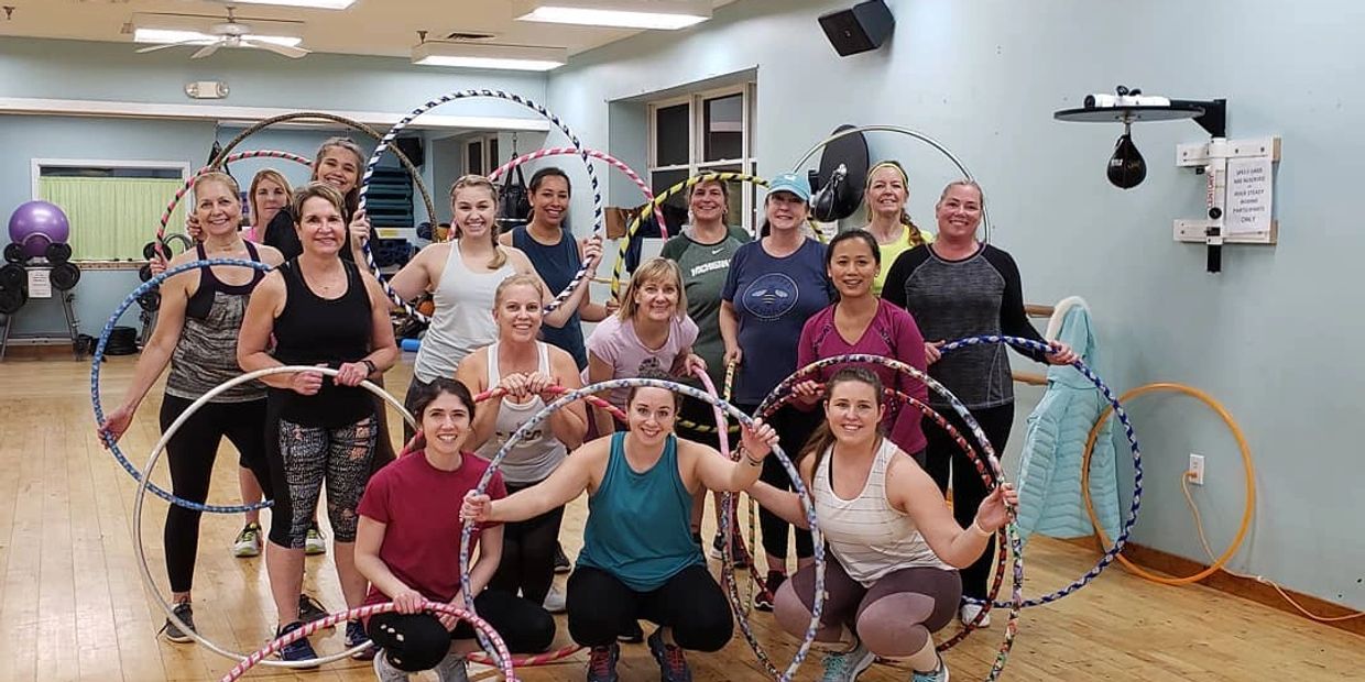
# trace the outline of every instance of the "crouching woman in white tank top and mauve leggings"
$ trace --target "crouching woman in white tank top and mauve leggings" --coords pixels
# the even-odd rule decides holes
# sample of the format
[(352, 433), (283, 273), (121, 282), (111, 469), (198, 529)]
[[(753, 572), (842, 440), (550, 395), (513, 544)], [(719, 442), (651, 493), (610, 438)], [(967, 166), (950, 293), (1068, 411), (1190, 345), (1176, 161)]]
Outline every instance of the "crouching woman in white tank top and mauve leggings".
[[(1009, 484), (995, 488), (962, 529), (934, 479), (878, 432), (882, 382), (864, 368), (841, 370), (826, 387), (826, 423), (801, 453), (801, 477), (829, 543), (819, 641), (849, 641), (824, 659), (824, 679), (854, 679), (876, 656), (905, 659), (915, 682), (946, 682), (934, 651), (935, 630), (953, 619), (962, 596), (954, 567), (972, 565), (1018, 503)], [(759, 483), (751, 492), (788, 521), (805, 525), (794, 492)], [(811, 623), (814, 567), (778, 591), (774, 612), (801, 637)], [(850, 636), (850, 637), (849, 637)]]

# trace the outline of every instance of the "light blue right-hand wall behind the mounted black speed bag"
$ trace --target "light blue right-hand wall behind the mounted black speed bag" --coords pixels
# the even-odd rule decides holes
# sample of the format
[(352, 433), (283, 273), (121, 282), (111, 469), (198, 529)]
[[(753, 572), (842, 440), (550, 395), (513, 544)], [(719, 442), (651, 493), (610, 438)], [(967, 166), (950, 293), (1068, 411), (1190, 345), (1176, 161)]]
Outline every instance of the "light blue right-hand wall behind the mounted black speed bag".
[[(1355, 540), (1360, 439), (1350, 427), (1365, 364), (1349, 346), (1365, 333), (1365, 316), (1347, 293), (1365, 250), (1347, 201), (1358, 175), (1350, 166), (1365, 153), (1357, 121), (1365, 94), (1354, 87), (1365, 63), (1365, 5), (893, 1), (891, 42), (841, 59), (816, 16), (850, 4), (734, 3), (695, 29), (575, 57), (551, 75), (549, 100), (584, 143), (614, 147), (639, 132), (612, 130), (609, 102), (756, 67), (760, 175), (789, 169), (841, 123), (936, 136), (984, 184), (994, 241), (1018, 261), (1028, 299), (1089, 300), (1103, 344), (1099, 370), (1115, 389), (1185, 382), (1241, 420), (1260, 498), (1231, 566), (1365, 607), (1365, 543)], [(1207, 140), (1190, 121), (1137, 125), (1147, 183), (1108, 186), (1104, 162), (1121, 128), (1058, 123), (1052, 112), (1117, 83), (1227, 97), (1233, 138), (1283, 135), (1280, 244), (1224, 248), (1215, 276), (1204, 271), (1203, 247), (1171, 239), (1173, 220), (1203, 211), (1203, 177), (1174, 166), (1175, 145)], [(932, 224), (951, 166), (904, 136), (872, 134), (870, 142), (874, 155), (909, 166), (912, 214)], [(1033, 396), (1021, 400), (1021, 412)], [(1244, 499), (1231, 438), (1189, 400), (1148, 398), (1132, 413), (1147, 475), (1134, 539), (1207, 561), (1178, 476), (1190, 451), (1208, 456), (1208, 484), (1196, 498), (1222, 551)], [(1016, 430), (1013, 451), (1021, 436)]]

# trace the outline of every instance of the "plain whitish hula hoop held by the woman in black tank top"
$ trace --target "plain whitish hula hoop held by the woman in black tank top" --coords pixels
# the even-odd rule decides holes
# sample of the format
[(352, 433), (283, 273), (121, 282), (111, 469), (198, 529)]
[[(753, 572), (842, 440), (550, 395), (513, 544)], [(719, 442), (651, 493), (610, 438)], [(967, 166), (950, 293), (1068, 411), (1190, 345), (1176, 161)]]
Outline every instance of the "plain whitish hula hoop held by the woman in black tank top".
[[(221, 394), (222, 391), (232, 389), (233, 386), (251, 382), (262, 376), (270, 376), (273, 374), (292, 374), (292, 372), (321, 372), (328, 376), (336, 376), (337, 374), (340, 374), (340, 371), (332, 370), (330, 367), (310, 367), (310, 366), (266, 367), (263, 370), (247, 372), (240, 376), (233, 376), (214, 386), (203, 396), (195, 398), (195, 401), (191, 402), (190, 406), (187, 406), (184, 412), (182, 412), (180, 416), (177, 416), (175, 421), (172, 421), (171, 426), (161, 434), (161, 439), (157, 441), (157, 445), (152, 447), (152, 454), (147, 457), (146, 469), (143, 469), (142, 475), (138, 477), (138, 494), (132, 501), (132, 547), (138, 554), (138, 563), (139, 563), (138, 569), (142, 576), (143, 587), (146, 587), (147, 592), (152, 592), (152, 596), (156, 599), (157, 606), (160, 606), (161, 610), (165, 611), (167, 618), (171, 619), (171, 622), (175, 623), (176, 627), (180, 629), (180, 632), (186, 633), (187, 636), (190, 636), (191, 640), (199, 642), (209, 651), (227, 659), (246, 660), (250, 657), (250, 655), (239, 653), (227, 649), (224, 647), (218, 647), (207, 637), (199, 634), (198, 632), (194, 630), (194, 627), (190, 627), (184, 621), (182, 621), (180, 617), (175, 614), (175, 608), (171, 606), (171, 603), (161, 596), (161, 589), (157, 588), (156, 578), (152, 577), (152, 567), (147, 565), (147, 550), (142, 543), (142, 505), (147, 499), (147, 490), (150, 488), (149, 476), (153, 468), (156, 468), (157, 460), (161, 458), (161, 453), (165, 451), (167, 443), (171, 442), (171, 438), (175, 436), (176, 431), (179, 431), (180, 427), (184, 426), (184, 423), (191, 416), (194, 416), (195, 412), (199, 411), (199, 408), (210, 402), (213, 398), (218, 397), (218, 394)], [(369, 390), (370, 393), (384, 398), (384, 401), (388, 402), (390, 406), (396, 408), (399, 413), (403, 415), (403, 419), (405, 419), (410, 424), (414, 423), (412, 415), (408, 413), (407, 408), (403, 406), (403, 402), (390, 396), (386, 390), (375, 386), (369, 379), (360, 382), (360, 386), (364, 390)], [(332, 663), (334, 660), (341, 660), (347, 656), (351, 656), (352, 653), (363, 651), (369, 645), (370, 642), (366, 641), (364, 644), (359, 644), (344, 652), (332, 653), (328, 656), (319, 656), (317, 659), (308, 659), (308, 660), (259, 660), (258, 663), (265, 666), (276, 666), (281, 668), (314, 667), (314, 666), (322, 666), (325, 663)]]

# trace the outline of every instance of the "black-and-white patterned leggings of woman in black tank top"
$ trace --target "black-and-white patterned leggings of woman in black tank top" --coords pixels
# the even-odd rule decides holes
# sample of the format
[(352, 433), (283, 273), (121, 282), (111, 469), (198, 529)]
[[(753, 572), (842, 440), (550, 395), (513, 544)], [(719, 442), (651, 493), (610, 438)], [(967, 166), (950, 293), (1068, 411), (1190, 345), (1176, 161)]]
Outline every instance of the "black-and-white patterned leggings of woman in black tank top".
[(355, 542), (356, 513), (378, 434), (370, 415), (337, 428), (307, 427), (280, 420), (278, 450), (270, 457), (274, 516), (270, 542), (302, 550), (322, 484), (328, 486), (328, 518), (339, 543)]

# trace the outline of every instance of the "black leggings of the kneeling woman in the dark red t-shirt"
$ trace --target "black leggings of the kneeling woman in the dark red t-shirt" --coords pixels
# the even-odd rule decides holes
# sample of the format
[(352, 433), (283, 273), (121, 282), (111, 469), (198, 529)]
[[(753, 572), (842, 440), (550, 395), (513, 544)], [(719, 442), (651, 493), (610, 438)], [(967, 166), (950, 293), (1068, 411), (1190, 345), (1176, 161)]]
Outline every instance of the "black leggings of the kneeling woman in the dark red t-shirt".
[[(474, 611), (498, 632), (513, 653), (539, 653), (554, 641), (554, 617), (526, 599), (489, 588), (474, 597)], [(435, 615), (426, 612), (374, 615), (366, 632), (393, 667), (408, 672), (434, 668), (450, 651), (452, 640), (474, 638), (470, 623), (460, 621), (450, 632)]]

